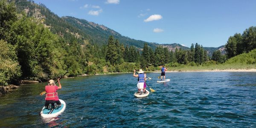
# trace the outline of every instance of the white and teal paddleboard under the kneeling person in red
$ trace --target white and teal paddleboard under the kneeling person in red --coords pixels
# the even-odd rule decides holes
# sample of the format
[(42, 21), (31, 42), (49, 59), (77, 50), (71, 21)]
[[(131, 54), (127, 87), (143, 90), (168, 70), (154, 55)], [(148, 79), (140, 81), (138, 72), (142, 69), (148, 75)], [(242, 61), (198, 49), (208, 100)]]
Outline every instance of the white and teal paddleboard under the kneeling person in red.
[(59, 99), (60, 102), (61, 102), (61, 107), (58, 108), (58, 109), (54, 109), (52, 111), (52, 113), (49, 114), (49, 111), (51, 110), (48, 110), (48, 109), (42, 109), (42, 111), (40, 112), (40, 115), (43, 117), (43, 118), (52, 118), (52, 117), (56, 117), (58, 116), (60, 113), (64, 112), (65, 108), (66, 108), (66, 103)]

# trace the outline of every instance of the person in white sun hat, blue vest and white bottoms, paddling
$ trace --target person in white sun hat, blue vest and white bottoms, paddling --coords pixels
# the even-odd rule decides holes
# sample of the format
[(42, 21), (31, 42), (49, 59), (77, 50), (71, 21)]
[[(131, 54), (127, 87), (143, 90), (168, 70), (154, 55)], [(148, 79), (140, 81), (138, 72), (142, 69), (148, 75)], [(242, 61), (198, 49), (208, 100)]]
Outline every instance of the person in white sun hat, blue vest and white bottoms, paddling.
[(144, 93), (146, 93), (146, 87), (144, 86), (145, 81), (146, 81), (146, 75), (144, 74), (143, 70), (140, 69), (140, 71), (138, 72), (138, 75), (135, 75), (136, 70), (134, 70), (134, 77), (138, 77), (138, 93), (142, 93), (142, 91)]

